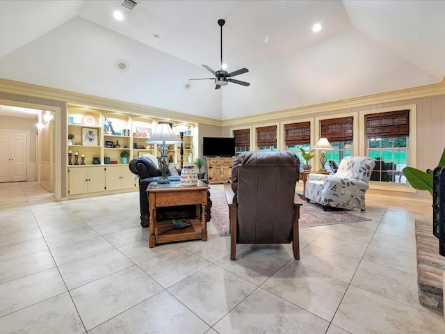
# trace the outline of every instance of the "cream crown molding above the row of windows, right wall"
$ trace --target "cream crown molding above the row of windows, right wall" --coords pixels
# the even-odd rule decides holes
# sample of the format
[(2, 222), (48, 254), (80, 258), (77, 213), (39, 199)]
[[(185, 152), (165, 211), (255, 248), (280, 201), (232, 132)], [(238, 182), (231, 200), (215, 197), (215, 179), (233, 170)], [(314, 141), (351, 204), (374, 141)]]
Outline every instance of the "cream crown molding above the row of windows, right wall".
[(439, 84), (431, 84), (414, 88), (406, 88), (402, 90), (393, 90), (387, 93), (378, 93), (373, 95), (365, 95), (362, 97), (354, 97), (347, 100), (338, 100), (332, 102), (324, 102), (321, 104), (313, 104), (311, 106), (299, 106), (297, 108), (284, 109), (281, 111), (270, 111), (268, 113), (254, 114), (239, 118), (230, 118), (222, 121), (222, 126), (242, 125), (252, 122), (265, 122), (277, 120), (280, 118), (289, 118), (291, 116), (309, 115), (312, 113), (321, 113), (325, 111), (334, 111), (340, 109), (357, 108), (369, 104), (382, 104), (386, 102), (394, 102), (401, 100), (419, 99), (421, 97), (429, 97), (433, 95), (445, 94), (445, 77)]

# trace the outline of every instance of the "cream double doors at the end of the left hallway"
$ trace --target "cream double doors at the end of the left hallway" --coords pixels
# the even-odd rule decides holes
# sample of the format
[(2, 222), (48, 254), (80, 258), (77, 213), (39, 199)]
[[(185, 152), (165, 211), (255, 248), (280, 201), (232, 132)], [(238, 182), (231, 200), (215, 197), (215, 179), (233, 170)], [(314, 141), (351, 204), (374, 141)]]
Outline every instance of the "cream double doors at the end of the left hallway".
[(0, 182), (26, 181), (25, 132), (0, 132)]

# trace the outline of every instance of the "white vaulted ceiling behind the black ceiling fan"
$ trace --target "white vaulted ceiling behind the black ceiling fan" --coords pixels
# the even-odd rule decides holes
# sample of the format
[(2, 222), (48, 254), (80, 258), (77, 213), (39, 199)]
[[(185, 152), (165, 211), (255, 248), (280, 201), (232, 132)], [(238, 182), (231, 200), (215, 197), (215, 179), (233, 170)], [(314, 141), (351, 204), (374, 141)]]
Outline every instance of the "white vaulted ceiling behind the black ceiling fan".
[[(0, 1), (0, 77), (227, 119), (445, 74), (445, 1), (139, 2)], [(219, 69), (221, 18), (224, 63), (248, 67), (236, 79), (251, 86), (203, 80), (185, 90), (212, 76), (201, 64)], [(118, 59), (128, 72), (115, 70)]]

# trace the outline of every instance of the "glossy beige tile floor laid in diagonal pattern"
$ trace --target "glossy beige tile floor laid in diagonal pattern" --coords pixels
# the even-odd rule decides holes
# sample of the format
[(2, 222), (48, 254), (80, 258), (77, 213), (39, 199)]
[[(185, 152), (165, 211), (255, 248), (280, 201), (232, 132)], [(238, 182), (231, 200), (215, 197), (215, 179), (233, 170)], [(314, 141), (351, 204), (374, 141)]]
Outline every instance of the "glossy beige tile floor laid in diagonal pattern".
[(0, 331), (443, 334), (417, 298), (414, 219), (430, 210), (367, 195), (372, 221), (300, 229), (300, 261), (239, 245), (233, 262), (211, 224), (207, 242), (148, 248), (136, 192), (55, 202), (3, 183)]

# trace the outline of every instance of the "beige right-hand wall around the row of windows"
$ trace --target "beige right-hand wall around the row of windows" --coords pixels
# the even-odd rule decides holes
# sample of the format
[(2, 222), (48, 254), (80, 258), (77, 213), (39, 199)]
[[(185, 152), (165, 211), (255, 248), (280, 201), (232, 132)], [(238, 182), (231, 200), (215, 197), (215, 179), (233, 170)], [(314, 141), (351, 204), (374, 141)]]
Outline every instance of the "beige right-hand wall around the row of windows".
[[(357, 113), (357, 115), (360, 115), (362, 111), (385, 109), (410, 104), (416, 105), (416, 168), (419, 168), (421, 170), (426, 170), (427, 168), (435, 168), (445, 147), (445, 95), (422, 97), (414, 100), (399, 100), (382, 104), (363, 104), (362, 106), (353, 108), (337, 110), (334, 109), (316, 113), (304, 113), (303, 110), (298, 114), (298, 116), (282, 116), (280, 118), (276, 118), (275, 120), (273, 120), (273, 122), (285, 122), (289, 120), (311, 120), (312, 122), (315, 122), (315, 119), (321, 116), (332, 116), (334, 118), (336, 115), (344, 113)], [(329, 108), (326, 109), (332, 109), (332, 105), (335, 105), (335, 102), (332, 102), (332, 104), (329, 105)], [(289, 113), (291, 114), (293, 113), (293, 111), (290, 109)], [(252, 120), (254, 120), (254, 117), (252, 117)], [(270, 124), (270, 122), (270, 120), (252, 122), (247, 121), (243, 123), (239, 122), (236, 123), (236, 125), (228, 125), (223, 127), (222, 134), (223, 136), (230, 136), (230, 130), (234, 127), (239, 128), (243, 126), (248, 127), (251, 125), (254, 126), (261, 124), (266, 125)], [(315, 123), (314, 125), (316, 126)], [(362, 138), (363, 135), (364, 134), (358, 134), (358, 138)], [(314, 134), (312, 134), (312, 136), (314, 136)], [(357, 134), (354, 134), (354, 137), (357, 138)], [(354, 154), (358, 153), (359, 152), (355, 152)], [(418, 191), (417, 193), (403, 193), (372, 189), (370, 192), (386, 196), (404, 196), (425, 199), (431, 198), (428, 191)]]

